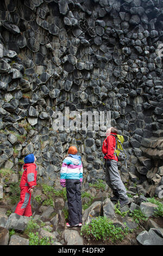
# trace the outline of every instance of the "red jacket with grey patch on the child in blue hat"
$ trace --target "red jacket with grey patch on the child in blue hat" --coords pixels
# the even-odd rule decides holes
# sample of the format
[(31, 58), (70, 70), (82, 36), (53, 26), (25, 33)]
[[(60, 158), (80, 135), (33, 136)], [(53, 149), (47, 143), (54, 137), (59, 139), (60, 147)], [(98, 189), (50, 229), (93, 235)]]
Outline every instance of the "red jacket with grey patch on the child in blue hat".
[(20, 182), (20, 187), (30, 187), (34, 188), (36, 184), (37, 179), (37, 168), (35, 163), (25, 163), (23, 165), (23, 175)]

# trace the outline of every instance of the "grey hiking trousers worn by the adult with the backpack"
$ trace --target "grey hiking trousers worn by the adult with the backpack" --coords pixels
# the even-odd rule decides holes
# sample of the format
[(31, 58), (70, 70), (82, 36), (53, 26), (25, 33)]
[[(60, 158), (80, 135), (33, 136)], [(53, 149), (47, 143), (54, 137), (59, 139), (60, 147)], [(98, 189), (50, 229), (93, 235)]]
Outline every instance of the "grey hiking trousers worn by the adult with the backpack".
[(111, 166), (107, 166), (105, 171), (106, 184), (112, 189), (115, 196), (119, 196), (120, 199), (125, 200), (128, 198), (126, 194), (126, 187), (124, 186), (120, 173), (118, 172), (118, 162), (116, 160), (110, 160)]

